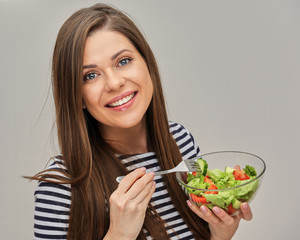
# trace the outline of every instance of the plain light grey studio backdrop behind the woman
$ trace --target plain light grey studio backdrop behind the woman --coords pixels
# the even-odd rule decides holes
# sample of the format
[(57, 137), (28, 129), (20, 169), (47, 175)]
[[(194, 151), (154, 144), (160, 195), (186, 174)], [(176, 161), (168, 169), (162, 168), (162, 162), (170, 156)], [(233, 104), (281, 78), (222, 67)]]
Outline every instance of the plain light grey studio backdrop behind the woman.
[[(234, 239), (300, 239), (300, 2), (115, 0), (157, 58), (171, 120), (202, 153), (262, 157), (264, 182)], [(36, 182), (59, 153), (50, 89), (57, 32), (96, 1), (0, 0), (0, 239), (32, 239)]]

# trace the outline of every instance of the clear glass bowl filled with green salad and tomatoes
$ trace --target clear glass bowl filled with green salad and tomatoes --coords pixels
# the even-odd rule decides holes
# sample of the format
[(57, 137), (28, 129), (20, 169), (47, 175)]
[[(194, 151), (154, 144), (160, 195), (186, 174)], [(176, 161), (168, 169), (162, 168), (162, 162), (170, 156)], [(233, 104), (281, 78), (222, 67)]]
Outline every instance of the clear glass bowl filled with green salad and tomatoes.
[[(239, 214), (241, 203), (253, 200), (262, 184), (266, 171), (263, 159), (254, 154), (240, 151), (211, 152), (202, 154), (197, 159), (199, 158), (204, 159), (208, 164), (206, 177), (201, 172), (198, 175), (191, 172), (176, 173), (176, 178), (189, 200), (199, 207), (206, 205), (212, 209), (214, 206), (218, 206), (231, 216)], [(237, 169), (243, 170), (247, 165), (255, 168), (256, 175), (250, 176), (250, 172), (247, 172), (249, 178), (238, 176), (241, 171)], [(242, 176), (244, 175), (242, 174)], [(204, 177), (206, 180), (201, 180)], [(203, 185), (203, 181), (205, 185)], [(195, 187), (195, 185), (201, 187)], [(212, 187), (212, 185), (215, 186)]]

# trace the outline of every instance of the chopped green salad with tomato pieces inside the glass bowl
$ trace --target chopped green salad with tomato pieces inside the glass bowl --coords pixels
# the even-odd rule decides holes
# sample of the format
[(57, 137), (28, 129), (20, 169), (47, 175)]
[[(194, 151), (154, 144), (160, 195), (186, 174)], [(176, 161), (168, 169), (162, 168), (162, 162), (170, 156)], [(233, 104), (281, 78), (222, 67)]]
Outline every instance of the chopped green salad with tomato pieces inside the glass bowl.
[[(198, 159), (197, 162), (200, 171), (188, 173), (186, 185), (202, 190), (189, 187), (186, 190), (191, 200), (199, 206), (206, 205), (210, 209), (218, 206), (232, 215), (240, 209), (242, 202), (251, 199), (258, 188), (258, 180), (253, 181), (257, 173), (252, 166), (246, 165), (243, 169), (240, 166), (225, 167), (222, 171), (208, 169), (204, 159)], [(245, 185), (237, 187), (242, 184)]]

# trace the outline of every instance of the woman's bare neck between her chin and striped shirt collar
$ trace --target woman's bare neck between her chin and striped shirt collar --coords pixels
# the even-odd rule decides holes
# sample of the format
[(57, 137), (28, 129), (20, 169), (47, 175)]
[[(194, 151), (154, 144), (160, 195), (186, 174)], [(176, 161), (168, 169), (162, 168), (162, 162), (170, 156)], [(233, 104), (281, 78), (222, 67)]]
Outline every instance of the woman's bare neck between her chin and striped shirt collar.
[(148, 147), (146, 119), (131, 128), (99, 126), (103, 139), (118, 154), (139, 154), (150, 151)]

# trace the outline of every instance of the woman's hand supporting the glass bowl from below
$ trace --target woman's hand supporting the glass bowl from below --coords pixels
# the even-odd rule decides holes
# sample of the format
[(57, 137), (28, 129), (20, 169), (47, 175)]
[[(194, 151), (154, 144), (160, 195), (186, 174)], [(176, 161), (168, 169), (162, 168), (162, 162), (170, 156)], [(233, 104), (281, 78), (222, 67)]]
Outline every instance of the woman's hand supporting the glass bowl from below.
[(208, 222), (211, 240), (230, 240), (235, 234), (241, 219), (247, 221), (252, 219), (250, 206), (246, 202), (242, 203), (241, 213), (236, 216), (230, 216), (218, 207), (214, 207), (211, 211), (204, 205), (199, 208), (190, 201), (187, 203), (194, 213)]

